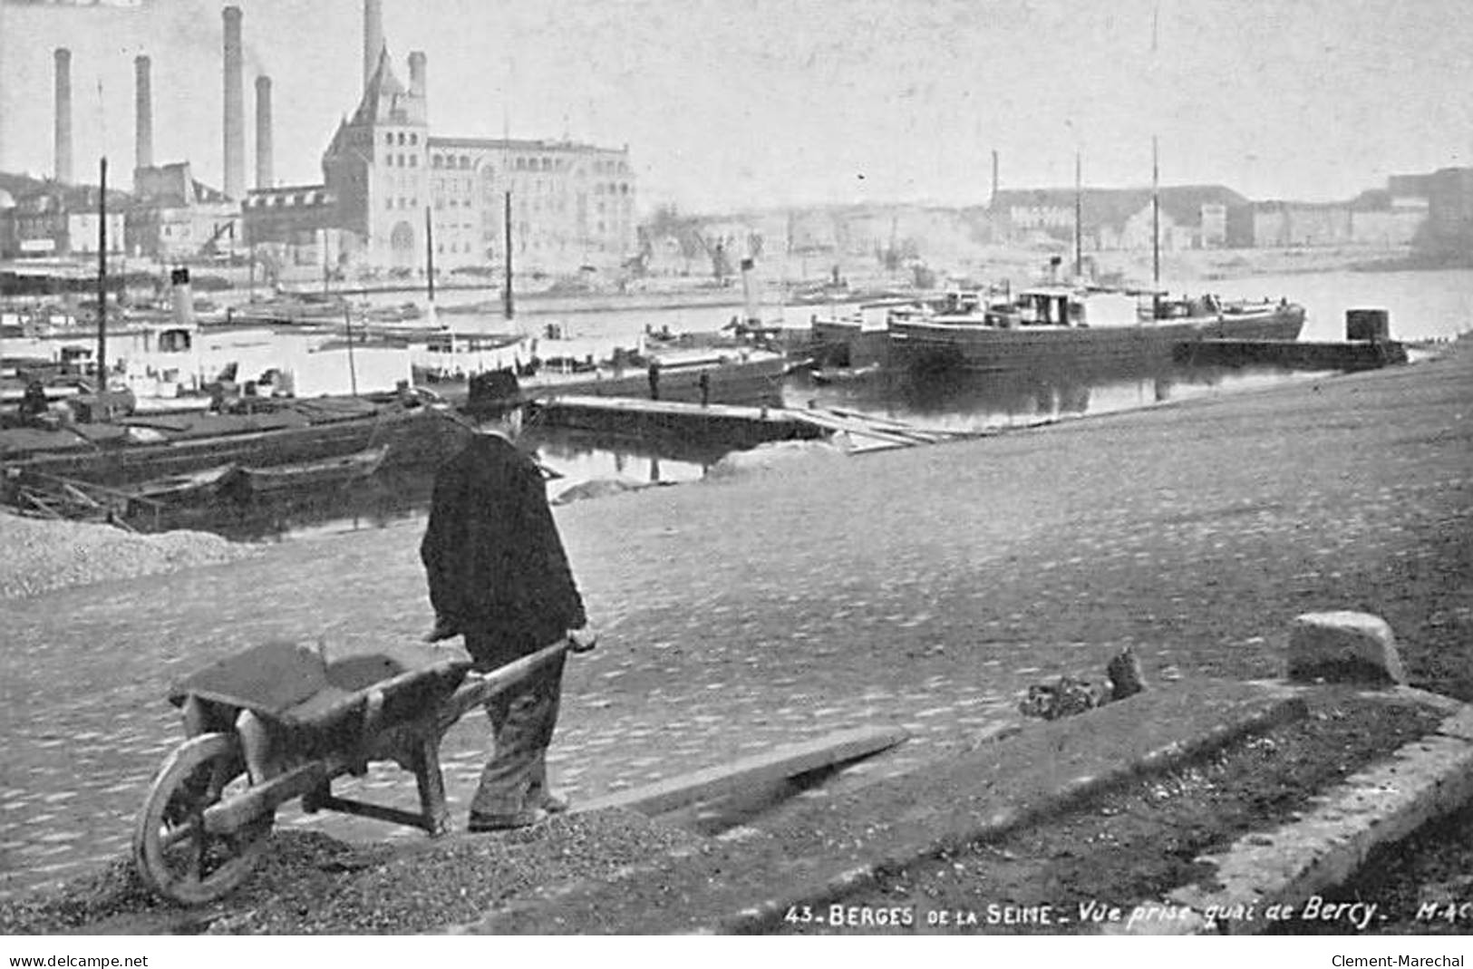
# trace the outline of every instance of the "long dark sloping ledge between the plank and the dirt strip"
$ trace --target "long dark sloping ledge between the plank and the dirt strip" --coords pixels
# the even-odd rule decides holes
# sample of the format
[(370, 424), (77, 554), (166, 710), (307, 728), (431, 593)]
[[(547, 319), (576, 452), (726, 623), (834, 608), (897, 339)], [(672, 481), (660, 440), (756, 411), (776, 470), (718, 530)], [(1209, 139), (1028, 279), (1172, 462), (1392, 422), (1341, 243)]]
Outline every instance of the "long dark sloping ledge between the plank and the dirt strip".
[[(1008, 742), (931, 761), (844, 795), (787, 803), (766, 817), (762, 831), (735, 828), (714, 838), (710, 848), (635, 866), (627, 872), (633, 882), (573, 882), (446, 931), (766, 931), (781, 923), (790, 906), (823, 904), (897, 864), (1047, 819), (1080, 798), (1209, 755), (1307, 713), (1308, 704), (1295, 691), (1258, 683), (1152, 691), (1142, 700), (1041, 723)], [(1167, 729), (1165, 736), (1153, 726), (1183, 714), (1195, 726)], [(1112, 757), (1112, 751), (1125, 753)], [(1009, 772), (1021, 772), (1018, 783), (999, 788)], [(815, 835), (825, 838), (820, 832), (837, 839), (812, 851)]]

